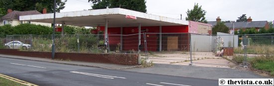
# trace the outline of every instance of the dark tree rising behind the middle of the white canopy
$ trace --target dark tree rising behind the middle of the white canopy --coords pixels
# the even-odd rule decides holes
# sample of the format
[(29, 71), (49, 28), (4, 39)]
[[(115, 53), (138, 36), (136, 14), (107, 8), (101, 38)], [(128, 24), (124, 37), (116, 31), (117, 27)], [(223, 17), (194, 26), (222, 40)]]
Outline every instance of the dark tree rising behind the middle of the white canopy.
[(146, 12), (145, 0), (88, 0), (92, 2), (92, 9), (125, 8), (139, 12)]

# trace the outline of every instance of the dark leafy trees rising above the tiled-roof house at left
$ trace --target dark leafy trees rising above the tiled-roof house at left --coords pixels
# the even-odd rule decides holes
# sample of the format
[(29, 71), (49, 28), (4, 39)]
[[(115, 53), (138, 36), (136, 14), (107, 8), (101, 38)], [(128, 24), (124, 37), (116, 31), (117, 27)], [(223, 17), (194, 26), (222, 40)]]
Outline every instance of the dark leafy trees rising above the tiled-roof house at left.
[[(61, 9), (65, 8), (65, 3), (67, 0), (56, 0), (56, 12), (60, 12)], [(1, 2), (0, 2), (1, 4)], [(47, 8), (47, 12), (53, 12), (53, 0), (7, 0), (2, 3), (5, 10), (11, 8), (17, 11), (28, 11), (37, 10), (42, 12), (43, 8)]]

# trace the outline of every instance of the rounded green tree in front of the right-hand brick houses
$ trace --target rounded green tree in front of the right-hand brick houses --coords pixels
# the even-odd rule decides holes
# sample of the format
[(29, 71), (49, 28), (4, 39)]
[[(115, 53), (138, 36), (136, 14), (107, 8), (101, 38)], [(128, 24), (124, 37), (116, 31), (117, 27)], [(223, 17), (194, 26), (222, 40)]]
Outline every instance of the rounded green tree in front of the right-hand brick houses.
[(217, 24), (212, 28), (212, 35), (217, 35), (217, 32), (228, 33), (229, 28), (224, 22), (217, 22)]

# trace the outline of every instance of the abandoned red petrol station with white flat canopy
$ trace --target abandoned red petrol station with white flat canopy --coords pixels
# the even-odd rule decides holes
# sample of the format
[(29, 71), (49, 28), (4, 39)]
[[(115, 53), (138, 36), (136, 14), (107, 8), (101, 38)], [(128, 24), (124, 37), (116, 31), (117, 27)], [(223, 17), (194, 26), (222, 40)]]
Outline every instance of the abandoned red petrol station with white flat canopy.
[[(52, 23), (53, 13), (20, 16), (19, 20)], [(178, 50), (178, 47), (189, 47), (189, 35), (187, 33), (211, 35), (212, 30), (212, 26), (209, 24), (173, 19), (123, 8), (56, 13), (56, 23), (62, 24), (62, 34), (64, 25), (100, 27), (99, 30), (105, 33), (105, 39), (109, 40), (109, 43), (105, 41), (105, 44), (115, 47), (120, 43), (121, 50), (144, 50), (144, 48), (139, 47), (143, 46), (141, 43), (144, 41), (142, 33), (150, 33), (146, 34), (146, 40), (153, 44), (147, 44), (147, 46), (152, 47), (148, 48), (148, 51), (161, 51), (169, 47)], [(168, 41), (175, 42), (177, 44), (175, 48), (172, 48), (174, 46), (168, 46)]]

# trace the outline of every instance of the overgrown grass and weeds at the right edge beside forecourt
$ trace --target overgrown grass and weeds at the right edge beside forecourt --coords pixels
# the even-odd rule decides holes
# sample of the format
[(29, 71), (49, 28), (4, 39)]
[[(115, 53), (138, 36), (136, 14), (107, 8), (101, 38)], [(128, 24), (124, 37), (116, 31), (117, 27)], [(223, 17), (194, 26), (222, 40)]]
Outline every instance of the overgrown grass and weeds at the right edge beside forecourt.
[[(247, 49), (247, 53), (257, 54), (259, 56), (248, 57), (247, 62), (251, 64), (254, 69), (262, 70), (271, 73), (274, 76), (274, 46), (272, 45), (251, 45)], [(234, 49), (238, 53), (244, 53), (244, 50), (239, 48)], [(244, 56), (234, 56), (233, 59), (237, 63), (243, 63)]]

